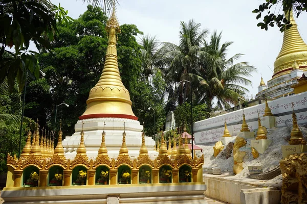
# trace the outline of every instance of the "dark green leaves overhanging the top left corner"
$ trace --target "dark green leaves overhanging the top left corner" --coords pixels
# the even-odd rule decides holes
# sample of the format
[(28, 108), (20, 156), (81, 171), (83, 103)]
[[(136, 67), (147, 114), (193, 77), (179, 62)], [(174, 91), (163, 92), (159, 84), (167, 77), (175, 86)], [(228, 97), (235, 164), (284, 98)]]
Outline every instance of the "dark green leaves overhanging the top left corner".
[[(49, 40), (53, 40), (56, 21), (68, 22), (71, 18), (60, 5), (56, 7), (45, 0), (7, 0), (1, 3), (0, 13), (0, 83), (7, 77), (12, 92), (16, 80), (21, 91), (27, 72), (39, 77), (35, 52), (27, 52), (30, 40), (51, 49)], [(5, 50), (6, 47), (14, 47), (15, 52)]]

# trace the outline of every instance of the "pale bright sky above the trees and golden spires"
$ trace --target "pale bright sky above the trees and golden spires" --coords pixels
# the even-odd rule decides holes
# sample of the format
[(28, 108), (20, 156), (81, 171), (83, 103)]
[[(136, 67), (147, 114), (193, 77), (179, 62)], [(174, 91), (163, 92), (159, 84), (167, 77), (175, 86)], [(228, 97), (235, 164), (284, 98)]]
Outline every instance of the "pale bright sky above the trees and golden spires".
[[(78, 18), (86, 11), (86, 3), (82, 0), (51, 0), (53, 4), (68, 10), (68, 15)], [(117, 17), (120, 24), (135, 24), (144, 35), (157, 36), (160, 42), (179, 44), (180, 21), (194, 19), (201, 23), (203, 29), (210, 33), (214, 30), (222, 33), (222, 42), (233, 41), (229, 47), (228, 57), (237, 53), (244, 54), (237, 62), (249, 62), (257, 68), (249, 79), (253, 86), (248, 96), (258, 92), (260, 77), (267, 84), (272, 78), (274, 61), (282, 45), (283, 34), (275, 26), (268, 31), (257, 27), (252, 11), (265, 0), (118, 0)], [(276, 13), (279, 11), (278, 6)], [(272, 7), (273, 8), (273, 7)], [(273, 8), (275, 9), (275, 8)], [(281, 13), (282, 11), (280, 11)], [(300, 14), (296, 19), (298, 30), (304, 42), (307, 42), (307, 13)], [(209, 33), (209, 34), (210, 34)], [(139, 36), (140, 37), (140, 36)], [(137, 39), (139, 40), (139, 37)], [(208, 38), (209, 39), (209, 38)]]

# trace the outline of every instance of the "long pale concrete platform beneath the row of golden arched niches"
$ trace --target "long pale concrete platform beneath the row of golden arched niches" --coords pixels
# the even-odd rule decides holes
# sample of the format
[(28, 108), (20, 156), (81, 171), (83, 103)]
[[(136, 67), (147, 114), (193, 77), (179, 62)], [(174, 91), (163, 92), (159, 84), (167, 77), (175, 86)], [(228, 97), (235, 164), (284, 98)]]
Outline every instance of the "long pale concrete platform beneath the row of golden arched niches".
[[(60, 186), (4, 188), (5, 204), (30, 203), (107, 203), (108, 196), (119, 202), (108, 203), (206, 203), (206, 185), (200, 183), (138, 184), (106, 186)], [(182, 193), (184, 192), (184, 194)], [(191, 202), (193, 201), (193, 202)]]

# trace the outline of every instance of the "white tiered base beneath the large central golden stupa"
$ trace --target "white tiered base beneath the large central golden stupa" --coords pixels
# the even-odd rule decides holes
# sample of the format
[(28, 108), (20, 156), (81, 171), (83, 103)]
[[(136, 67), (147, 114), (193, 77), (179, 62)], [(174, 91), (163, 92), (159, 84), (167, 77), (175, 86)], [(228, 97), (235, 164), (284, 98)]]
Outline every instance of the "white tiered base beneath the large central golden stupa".
[[(67, 159), (74, 158), (77, 154), (76, 151), (81, 138), (80, 133), (82, 130), (82, 121), (84, 122), (84, 145), (87, 157), (97, 157), (98, 149), (101, 145), (101, 134), (103, 129), (105, 132), (105, 145), (110, 158), (117, 158), (119, 155), (124, 129), (126, 132), (126, 145), (129, 156), (131, 158), (137, 158), (139, 156), (140, 147), (142, 145), (143, 130), (143, 125), (140, 125), (139, 121), (125, 118), (92, 118), (79, 120), (77, 124), (75, 124), (76, 132), (72, 136), (65, 137), (63, 140), (62, 145)], [(158, 152), (153, 151), (153, 148), (156, 145), (155, 141), (151, 137), (145, 137), (145, 144), (148, 149), (149, 157), (157, 157)]]

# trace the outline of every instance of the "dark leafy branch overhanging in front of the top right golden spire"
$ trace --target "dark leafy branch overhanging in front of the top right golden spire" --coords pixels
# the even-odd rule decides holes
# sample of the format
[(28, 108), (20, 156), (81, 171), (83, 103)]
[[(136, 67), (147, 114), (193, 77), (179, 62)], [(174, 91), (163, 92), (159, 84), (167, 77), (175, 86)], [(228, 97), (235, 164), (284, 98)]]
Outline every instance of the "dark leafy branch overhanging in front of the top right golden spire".
[[(266, 0), (266, 3), (262, 3), (259, 5), (258, 9), (253, 10), (253, 13), (257, 13), (256, 19), (263, 17), (263, 22), (259, 22), (257, 24), (258, 27), (261, 29), (268, 30), (268, 27), (274, 27), (274, 24), (277, 25), (280, 32), (285, 31), (286, 29), (289, 29), (292, 24), (288, 20), (290, 16), (286, 16), (283, 14), (275, 13), (276, 8), (278, 5), (281, 4), (282, 11), (285, 13), (288, 13), (290, 15), (290, 11), (294, 8), (294, 11), (296, 13), (296, 17), (300, 15), (300, 13), (306, 11), (307, 12), (307, 1), (288, 1), (288, 0)], [(272, 6), (275, 6), (275, 9), (272, 8)], [(277, 9), (279, 10), (279, 9)], [(267, 11), (267, 15), (264, 14), (264, 12)], [(271, 12), (272, 11), (272, 12)]]

